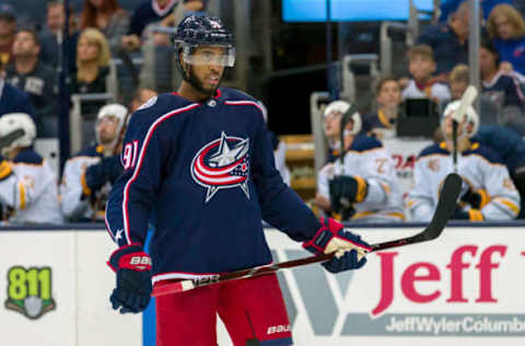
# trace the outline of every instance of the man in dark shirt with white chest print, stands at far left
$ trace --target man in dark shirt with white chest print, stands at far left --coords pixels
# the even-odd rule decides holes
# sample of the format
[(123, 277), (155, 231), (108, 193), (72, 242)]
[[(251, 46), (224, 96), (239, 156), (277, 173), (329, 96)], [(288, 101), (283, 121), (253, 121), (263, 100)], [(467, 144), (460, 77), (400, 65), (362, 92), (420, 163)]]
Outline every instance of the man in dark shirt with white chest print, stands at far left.
[(13, 44), (13, 62), (5, 68), (5, 80), (25, 91), (39, 118), (38, 137), (58, 137), (56, 73), (38, 59), (40, 45), (32, 28), (18, 32)]

